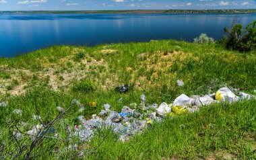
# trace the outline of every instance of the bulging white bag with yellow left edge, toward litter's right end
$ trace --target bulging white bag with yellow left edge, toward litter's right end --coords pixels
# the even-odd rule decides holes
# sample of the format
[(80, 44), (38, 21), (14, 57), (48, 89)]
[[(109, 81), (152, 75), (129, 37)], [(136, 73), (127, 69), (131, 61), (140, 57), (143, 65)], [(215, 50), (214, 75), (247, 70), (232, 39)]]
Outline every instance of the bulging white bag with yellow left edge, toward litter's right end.
[(222, 102), (237, 102), (239, 97), (230, 91), (230, 89), (224, 87), (216, 92), (215, 99)]

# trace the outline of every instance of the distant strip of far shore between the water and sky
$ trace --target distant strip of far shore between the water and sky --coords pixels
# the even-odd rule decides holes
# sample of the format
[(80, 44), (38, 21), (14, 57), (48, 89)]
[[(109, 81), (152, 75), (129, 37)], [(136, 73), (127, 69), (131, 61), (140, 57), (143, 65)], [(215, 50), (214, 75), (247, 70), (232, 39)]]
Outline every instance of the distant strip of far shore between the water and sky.
[(137, 9), (137, 10), (95, 10), (95, 11), (0, 11), (3, 14), (22, 13), (256, 13), (256, 9)]

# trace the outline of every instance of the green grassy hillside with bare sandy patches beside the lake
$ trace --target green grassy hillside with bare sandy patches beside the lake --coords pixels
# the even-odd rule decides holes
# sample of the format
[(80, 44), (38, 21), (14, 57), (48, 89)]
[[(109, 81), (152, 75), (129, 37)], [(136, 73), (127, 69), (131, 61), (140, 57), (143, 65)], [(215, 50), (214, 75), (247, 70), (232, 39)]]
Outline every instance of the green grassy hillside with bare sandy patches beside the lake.
[[(6, 142), (12, 139), (15, 126), (20, 122), (38, 124), (32, 120), (38, 113), (42, 122), (51, 121), (59, 114), (56, 107), (68, 108), (72, 99), (84, 104), (82, 115), (90, 118), (102, 110), (103, 104), (110, 104), (117, 112), (133, 102), (139, 104), (142, 93), (147, 104), (171, 103), (181, 93), (214, 93), (224, 86), (253, 93), (255, 64), (255, 51), (240, 53), (217, 44), (175, 40), (94, 47), (53, 46), (15, 58), (1, 58), (0, 102), (7, 102), (8, 106), (0, 107), (0, 144), (5, 144), (0, 157), (18, 147), (15, 141)], [(179, 87), (177, 79), (185, 85)], [(115, 87), (123, 84), (129, 85), (127, 93), (115, 91)], [(90, 107), (90, 102), (96, 102), (96, 108)], [(255, 104), (255, 100), (218, 104), (196, 114), (167, 118), (127, 143), (117, 141), (117, 135), (110, 130), (103, 130), (87, 144), (92, 147), (90, 151), (95, 149), (88, 158), (254, 159)], [(21, 118), (13, 117), (15, 109), (23, 111)], [(77, 106), (71, 108), (54, 126), (62, 139), (67, 139), (65, 127), (77, 124), (77, 110)], [(23, 144), (28, 139), (21, 141)], [(74, 144), (47, 139), (38, 148), (36, 159), (69, 159), (77, 153), (63, 150), (69, 143)]]

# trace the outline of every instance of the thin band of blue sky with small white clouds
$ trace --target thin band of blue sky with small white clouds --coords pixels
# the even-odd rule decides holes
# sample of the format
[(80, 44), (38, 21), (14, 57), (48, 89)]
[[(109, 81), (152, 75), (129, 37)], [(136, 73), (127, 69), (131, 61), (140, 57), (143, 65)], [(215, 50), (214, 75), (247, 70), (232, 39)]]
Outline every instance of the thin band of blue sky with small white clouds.
[(256, 0), (0, 0), (0, 11), (249, 8)]

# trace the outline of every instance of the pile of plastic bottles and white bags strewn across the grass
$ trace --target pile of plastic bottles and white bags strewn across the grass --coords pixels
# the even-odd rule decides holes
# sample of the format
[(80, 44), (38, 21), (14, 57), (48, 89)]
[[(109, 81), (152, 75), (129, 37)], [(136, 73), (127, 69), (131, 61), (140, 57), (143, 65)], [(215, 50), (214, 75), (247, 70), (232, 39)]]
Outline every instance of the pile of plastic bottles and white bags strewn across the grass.
[[(124, 89), (125, 88), (125, 89)], [(122, 91), (127, 89), (127, 86), (120, 87)], [(123, 106), (121, 112), (110, 110), (110, 104), (104, 104), (104, 109), (98, 114), (92, 115), (92, 119), (86, 120), (84, 116), (79, 116), (79, 125), (75, 125), (73, 130), (70, 130), (71, 136), (79, 136), (80, 141), (90, 141), (97, 128), (110, 127), (114, 132), (120, 134), (121, 141), (129, 141), (129, 138), (136, 133), (142, 132), (144, 128), (152, 127), (152, 124), (161, 122), (166, 116), (177, 116), (181, 114), (189, 114), (199, 112), (199, 108), (209, 106), (210, 104), (220, 102), (238, 102), (241, 99), (256, 98), (255, 95), (240, 92), (240, 97), (235, 95), (227, 87), (219, 89), (216, 93), (207, 94), (204, 96), (192, 95), (188, 97), (181, 94), (174, 99), (172, 104), (152, 104), (146, 105), (146, 96), (141, 95), (141, 103), (139, 105), (132, 103), (129, 106)], [(73, 102), (79, 106), (79, 111), (84, 110), (77, 99)], [(92, 106), (96, 104), (91, 104)], [(1, 103), (1, 106), (6, 107), (6, 103)], [(63, 108), (57, 107), (57, 110), (63, 112)], [(13, 114), (22, 116), (22, 110), (13, 110)], [(34, 116), (35, 118), (38, 118)], [(35, 126), (29, 130), (28, 134), (36, 134), (40, 126)]]

